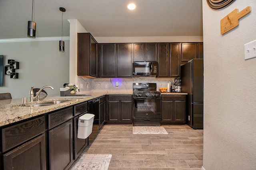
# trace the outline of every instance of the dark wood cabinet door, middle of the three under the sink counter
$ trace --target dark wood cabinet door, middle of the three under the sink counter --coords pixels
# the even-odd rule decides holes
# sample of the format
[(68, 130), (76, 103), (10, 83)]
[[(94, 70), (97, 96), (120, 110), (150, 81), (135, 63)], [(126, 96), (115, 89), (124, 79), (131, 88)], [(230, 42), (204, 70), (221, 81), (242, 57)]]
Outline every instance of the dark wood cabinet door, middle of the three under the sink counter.
[(73, 160), (72, 119), (49, 131), (50, 170), (68, 169)]

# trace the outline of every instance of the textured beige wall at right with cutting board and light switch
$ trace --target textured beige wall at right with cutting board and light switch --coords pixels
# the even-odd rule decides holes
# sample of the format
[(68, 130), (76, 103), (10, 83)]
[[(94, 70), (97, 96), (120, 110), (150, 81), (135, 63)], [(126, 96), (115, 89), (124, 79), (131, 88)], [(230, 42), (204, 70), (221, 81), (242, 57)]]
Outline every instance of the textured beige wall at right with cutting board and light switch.
[[(205, 170), (256, 168), (256, 58), (244, 60), (244, 44), (256, 40), (256, 1), (236, 0), (214, 11), (203, 0)], [(220, 20), (238, 8), (252, 12), (220, 34)]]

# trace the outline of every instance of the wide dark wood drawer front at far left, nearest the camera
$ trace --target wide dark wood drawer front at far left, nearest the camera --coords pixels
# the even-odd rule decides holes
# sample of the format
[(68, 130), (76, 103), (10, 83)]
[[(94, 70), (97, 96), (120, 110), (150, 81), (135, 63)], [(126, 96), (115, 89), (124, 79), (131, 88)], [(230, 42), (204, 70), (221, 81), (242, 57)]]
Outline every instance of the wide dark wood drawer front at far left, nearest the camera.
[(44, 116), (2, 129), (2, 152), (44, 133)]

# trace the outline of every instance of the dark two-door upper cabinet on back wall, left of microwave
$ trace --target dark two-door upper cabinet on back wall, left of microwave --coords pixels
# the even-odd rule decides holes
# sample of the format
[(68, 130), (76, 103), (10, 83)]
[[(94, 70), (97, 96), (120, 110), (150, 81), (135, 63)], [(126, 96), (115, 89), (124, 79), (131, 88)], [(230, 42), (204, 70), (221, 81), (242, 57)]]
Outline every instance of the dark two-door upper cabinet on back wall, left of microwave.
[(100, 45), (101, 77), (132, 77), (132, 44)]

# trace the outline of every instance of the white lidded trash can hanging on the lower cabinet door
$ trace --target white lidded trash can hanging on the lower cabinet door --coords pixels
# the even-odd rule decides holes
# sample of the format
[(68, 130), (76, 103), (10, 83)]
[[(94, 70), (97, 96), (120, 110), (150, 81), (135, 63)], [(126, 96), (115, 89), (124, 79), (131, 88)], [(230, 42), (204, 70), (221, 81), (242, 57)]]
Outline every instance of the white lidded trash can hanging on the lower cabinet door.
[(86, 139), (92, 133), (94, 114), (86, 113), (78, 118), (77, 138)]

